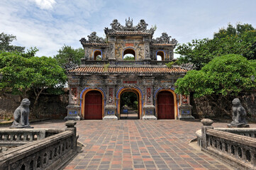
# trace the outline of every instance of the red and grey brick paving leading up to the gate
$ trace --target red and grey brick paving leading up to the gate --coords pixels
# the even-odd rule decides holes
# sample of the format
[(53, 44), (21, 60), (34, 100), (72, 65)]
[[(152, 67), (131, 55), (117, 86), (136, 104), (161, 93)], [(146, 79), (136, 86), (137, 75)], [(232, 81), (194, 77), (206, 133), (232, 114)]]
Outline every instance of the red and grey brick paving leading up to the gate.
[[(33, 126), (65, 128), (60, 120), (52, 122)], [(213, 124), (218, 128), (226, 125)], [(199, 122), (81, 120), (76, 127), (84, 148), (65, 169), (230, 169), (189, 145), (201, 128)]]

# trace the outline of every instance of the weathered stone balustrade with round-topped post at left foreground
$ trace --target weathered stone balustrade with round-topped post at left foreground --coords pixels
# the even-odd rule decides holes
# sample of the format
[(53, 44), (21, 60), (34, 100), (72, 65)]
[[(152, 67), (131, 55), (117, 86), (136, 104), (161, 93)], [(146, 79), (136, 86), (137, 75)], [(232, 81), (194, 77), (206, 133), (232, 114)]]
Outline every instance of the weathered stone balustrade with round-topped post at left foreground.
[[(76, 135), (75, 124), (74, 121), (67, 121), (65, 131), (28, 130), (30, 132), (23, 133), (23, 138), (32, 135), (33, 139), (33, 134), (38, 134), (37, 140), (32, 140), (32, 142), (26, 140), (27, 143), (25, 145), (11, 148), (6, 152), (1, 152), (0, 169), (62, 169), (77, 153), (78, 136)], [(26, 130), (23, 129), (23, 131)], [(48, 134), (47, 132), (50, 133)], [(54, 132), (56, 132), (56, 134), (52, 135)], [(17, 137), (18, 134), (19, 133), (16, 132)], [(22, 133), (20, 133), (20, 135), (21, 134)], [(46, 137), (46, 134), (50, 136)], [(43, 136), (45, 136), (45, 138), (41, 139)], [(10, 137), (8, 137), (8, 139), (11, 139)]]

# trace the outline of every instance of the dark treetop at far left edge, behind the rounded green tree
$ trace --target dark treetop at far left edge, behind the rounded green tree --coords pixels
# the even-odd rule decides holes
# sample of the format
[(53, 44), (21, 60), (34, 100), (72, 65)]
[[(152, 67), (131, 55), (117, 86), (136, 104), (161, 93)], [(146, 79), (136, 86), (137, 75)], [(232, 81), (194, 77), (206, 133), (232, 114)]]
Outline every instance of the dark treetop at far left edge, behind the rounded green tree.
[(11, 45), (11, 42), (16, 40), (16, 36), (7, 35), (5, 33), (0, 34), (0, 52), (24, 52), (25, 47)]

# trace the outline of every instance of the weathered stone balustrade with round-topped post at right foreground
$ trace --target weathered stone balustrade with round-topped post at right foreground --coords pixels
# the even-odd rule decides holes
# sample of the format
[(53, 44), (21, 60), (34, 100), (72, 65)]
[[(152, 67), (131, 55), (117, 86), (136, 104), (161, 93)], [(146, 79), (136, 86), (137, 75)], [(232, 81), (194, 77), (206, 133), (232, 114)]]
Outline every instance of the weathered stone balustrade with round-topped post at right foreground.
[(204, 124), (196, 131), (201, 150), (235, 169), (256, 169), (256, 128), (216, 128)]

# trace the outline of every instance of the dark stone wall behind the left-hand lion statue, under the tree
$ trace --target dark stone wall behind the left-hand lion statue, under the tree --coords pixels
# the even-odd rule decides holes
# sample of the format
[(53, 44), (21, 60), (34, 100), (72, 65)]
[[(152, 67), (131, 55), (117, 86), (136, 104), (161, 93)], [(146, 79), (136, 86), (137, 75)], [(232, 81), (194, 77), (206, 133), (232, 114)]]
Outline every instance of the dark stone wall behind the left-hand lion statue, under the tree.
[[(38, 99), (38, 104), (35, 109), (32, 108), (34, 97), (28, 97), (30, 104), (30, 119), (63, 119), (67, 115), (68, 91), (60, 96), (57, 95), (42, 95)], [(19, 96), (11, 94), (0, 95), (0, 119), (13, 117), (13, 112), (20, 106)]]

